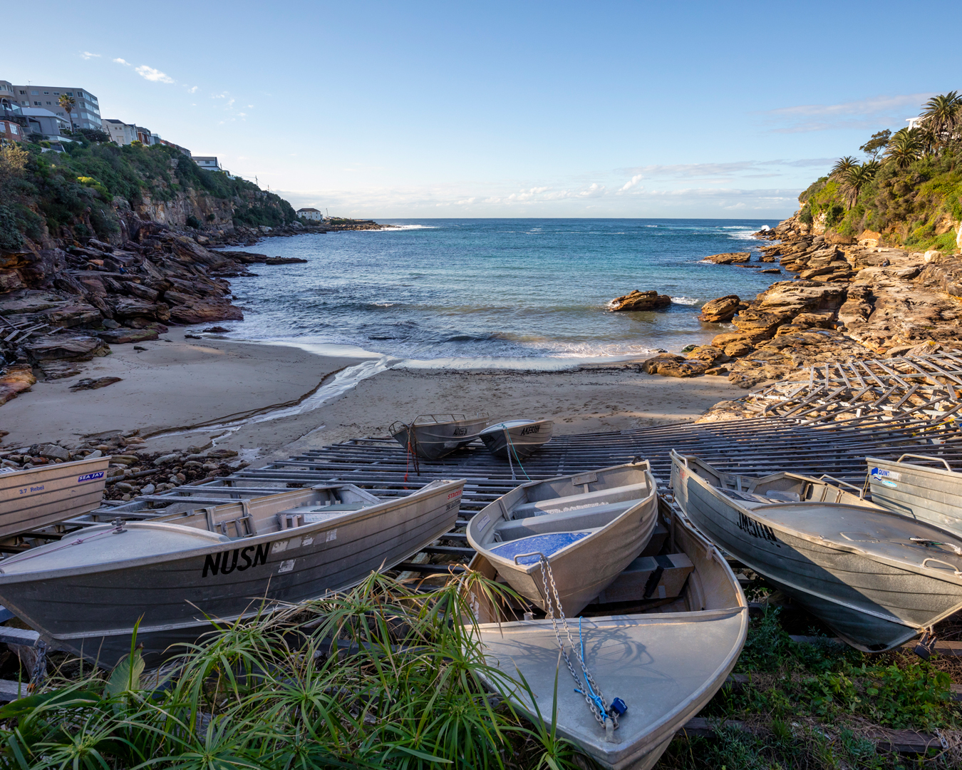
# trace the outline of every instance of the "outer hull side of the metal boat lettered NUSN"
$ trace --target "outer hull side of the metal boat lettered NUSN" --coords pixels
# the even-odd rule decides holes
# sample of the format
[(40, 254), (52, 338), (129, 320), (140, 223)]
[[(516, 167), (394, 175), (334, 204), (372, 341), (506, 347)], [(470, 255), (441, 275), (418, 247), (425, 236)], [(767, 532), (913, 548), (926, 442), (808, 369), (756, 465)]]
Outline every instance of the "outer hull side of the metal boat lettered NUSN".
[(454, 526), (464, 481), (435, 484), (349, 520), (217, 542), (142, 563), (0, 575), (0, 599), (48, 642), (101, 665), (129, 653), (139, 623), (143, 655), (157, 663), (177, 652), (167, 650), (170, 644), (191, 643), (212, 630), (211, 620), (231, 622), (349, 587), (426, 547)]

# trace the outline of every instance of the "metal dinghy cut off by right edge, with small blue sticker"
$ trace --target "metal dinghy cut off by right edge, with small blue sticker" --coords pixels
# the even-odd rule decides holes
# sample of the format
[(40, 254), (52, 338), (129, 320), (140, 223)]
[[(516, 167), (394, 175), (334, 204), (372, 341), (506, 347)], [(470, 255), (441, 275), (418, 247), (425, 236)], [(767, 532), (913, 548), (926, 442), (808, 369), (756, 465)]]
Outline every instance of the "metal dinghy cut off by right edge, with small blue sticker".
[[(903, 463), (906, 457), (943, 463), (946, 468)], [(873, 502), (962, 535), (962, 474), (952, 471), (944, 459), (903, 454), (895, 462), (874, 457), (867, 457), (866, 462)]]

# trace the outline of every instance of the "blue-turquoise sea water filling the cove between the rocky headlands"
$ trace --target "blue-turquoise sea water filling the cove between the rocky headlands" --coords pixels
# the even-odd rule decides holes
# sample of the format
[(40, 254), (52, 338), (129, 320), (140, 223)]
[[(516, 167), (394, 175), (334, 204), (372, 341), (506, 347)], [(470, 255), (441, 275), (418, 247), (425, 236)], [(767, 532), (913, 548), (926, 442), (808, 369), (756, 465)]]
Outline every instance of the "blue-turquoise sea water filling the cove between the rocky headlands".
[[(707, 342), (730, 327), (697, 321), (701, 304), (779, 279), (701, 262), (757, 251), (751, 233), (770, 219), (381, 221), (402, 229), (249, 247), (308, 262), (232, 279), (245, 319), (224, 324), (230, 336), (406, 359), (619, 357)], [(671, 295), (671, 308), (605, 310), (632, 289)]]

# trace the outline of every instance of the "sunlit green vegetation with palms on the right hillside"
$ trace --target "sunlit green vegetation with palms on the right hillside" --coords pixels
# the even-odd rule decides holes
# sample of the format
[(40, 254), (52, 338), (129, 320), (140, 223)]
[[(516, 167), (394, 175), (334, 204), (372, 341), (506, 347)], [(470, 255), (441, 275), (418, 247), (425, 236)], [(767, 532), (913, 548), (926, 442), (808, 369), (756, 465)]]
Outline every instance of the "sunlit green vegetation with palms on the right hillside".
[(873, 134), (859, 148), (865, 163), (840, 158), (798, 196), (801, 220), (843, 236), (868, 229), (907, 248), (953, 251), (962, 221), (962, 95), (934, 96), (921, 116), (919, 127)]

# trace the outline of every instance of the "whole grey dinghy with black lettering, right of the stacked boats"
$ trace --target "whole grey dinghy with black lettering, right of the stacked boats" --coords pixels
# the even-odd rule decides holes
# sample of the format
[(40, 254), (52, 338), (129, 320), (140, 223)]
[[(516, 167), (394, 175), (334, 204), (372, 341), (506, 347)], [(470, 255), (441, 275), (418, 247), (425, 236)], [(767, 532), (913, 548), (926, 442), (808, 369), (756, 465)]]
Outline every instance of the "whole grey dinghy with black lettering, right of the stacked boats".
[(672, 452), (675, 500), (707, 537), (865, 652), (962, 609), (962, 539), (822, 480), (726, 475)]

